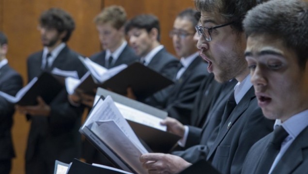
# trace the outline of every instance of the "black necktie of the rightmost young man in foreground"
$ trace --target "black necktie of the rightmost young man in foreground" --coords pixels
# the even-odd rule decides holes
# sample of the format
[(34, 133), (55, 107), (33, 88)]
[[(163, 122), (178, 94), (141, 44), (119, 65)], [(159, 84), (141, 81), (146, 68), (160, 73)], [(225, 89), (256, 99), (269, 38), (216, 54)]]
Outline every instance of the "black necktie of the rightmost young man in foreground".
[(268, 174), (280, 151), (281, 143), (288, 135), (282, 126), (274, 130), (273, 139), (268, 143), (255, 174)]

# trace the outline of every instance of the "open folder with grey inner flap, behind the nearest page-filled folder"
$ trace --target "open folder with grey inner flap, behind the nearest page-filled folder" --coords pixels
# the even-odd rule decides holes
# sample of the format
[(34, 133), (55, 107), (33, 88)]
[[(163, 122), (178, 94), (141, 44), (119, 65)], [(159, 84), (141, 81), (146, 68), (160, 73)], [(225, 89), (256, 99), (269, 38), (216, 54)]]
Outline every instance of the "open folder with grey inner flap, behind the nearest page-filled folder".
[(153, 152), (169, 153), (181, 139), (180, 136), (168, 132), (166, 126), (160, 125), (160, 122), (168, 116), (168, 112), (98, 88), (96, 96), (101, 95), (112, 97), (130, 127)]

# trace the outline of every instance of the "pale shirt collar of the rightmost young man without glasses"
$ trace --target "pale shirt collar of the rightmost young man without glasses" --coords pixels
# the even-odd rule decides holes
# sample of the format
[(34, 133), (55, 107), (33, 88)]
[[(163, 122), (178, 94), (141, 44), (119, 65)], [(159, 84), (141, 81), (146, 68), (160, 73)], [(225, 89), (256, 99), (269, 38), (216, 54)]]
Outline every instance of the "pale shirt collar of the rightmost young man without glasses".
[(282, 125), (282, 127), (289, 133), (289, 135), (295, 139), (306, 127), (308, 127), (308, 110), (299, 112), (285, 122), (277, 119), (274, 125), (274, 129), (277, 126)]

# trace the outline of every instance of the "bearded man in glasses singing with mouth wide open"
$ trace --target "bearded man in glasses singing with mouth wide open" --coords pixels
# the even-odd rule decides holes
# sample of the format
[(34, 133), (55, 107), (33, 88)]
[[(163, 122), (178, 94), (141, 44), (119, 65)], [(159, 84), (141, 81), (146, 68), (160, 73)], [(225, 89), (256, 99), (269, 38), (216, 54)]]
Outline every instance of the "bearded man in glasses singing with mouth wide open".
[[(207, 70), (214, 73), (218, 82), (235, 78), (239, 83), (224, 107), (213, 145), (192, 146), (181, 154), (182, 158), (170, 154), (144, 154), (140, 161), (150, 174), (179, 173), (200, 159), (207, 160), (222, 174), (239, 174), (252, 144), (272, 131), (273, 122), (264, 118), (258, 107), (244, 56), (243, 16), (260, 2), (195, 0), (196, 8), (201, 12), (197, 47), (201, 50), (201, 57), (209, 63)], [(183, 127), (179, 129), (183, 130)], [(194, 174), (206, 172), (211, 171), (195, 170)]]

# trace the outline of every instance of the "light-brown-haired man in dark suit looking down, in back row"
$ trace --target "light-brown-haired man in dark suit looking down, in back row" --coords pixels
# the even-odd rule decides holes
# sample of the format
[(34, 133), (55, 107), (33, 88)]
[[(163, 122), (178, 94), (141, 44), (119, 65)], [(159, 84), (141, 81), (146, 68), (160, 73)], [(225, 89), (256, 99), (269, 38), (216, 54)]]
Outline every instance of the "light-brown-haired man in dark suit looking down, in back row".
[[(126, 12), (123, 7), (112, 5), (103, 9), (94, 18), (96, 29), (102, 48), (101, 52), (93, 54), (90, 59), (106, 68), (112, 68), (120, 64), (131, 64), (139, 61), (135, 51), (128, 46), (125, 40), (124, 24), (126, 22)], [(95, 91), (96, 89), (93, 89)], [(92, 108), (94, 96), (76, 91), (74, 96), (70, 96), (76, 103), (82, 103)], [(83, 142), (83, 158), (88, 163), (106, 163), (100, 152), (87, 140)]]

